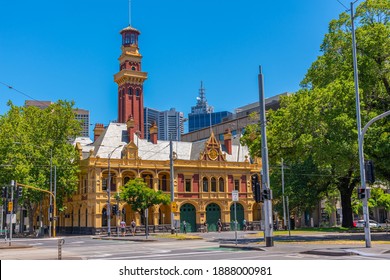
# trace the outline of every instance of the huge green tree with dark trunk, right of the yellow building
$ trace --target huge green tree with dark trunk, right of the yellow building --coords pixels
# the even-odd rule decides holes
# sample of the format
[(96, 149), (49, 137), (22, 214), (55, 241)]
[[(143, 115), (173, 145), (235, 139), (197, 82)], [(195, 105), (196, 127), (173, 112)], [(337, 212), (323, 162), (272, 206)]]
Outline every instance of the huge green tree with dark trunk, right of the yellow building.
[[(355, 24), (364, 125), (390, 109), (390, 1), (363, 2), (356, 9)], [(330, 22), (321, 52), (302, 89), (282, 98), (279, 110), (268, 112), (269, 157), (274, 165), (284, 158), (288, 165), (304, 166), (310, 159), (316, 170), (313, 175), (327, 179), (307, 185), (300, 178), (299, 184), (307, 192), (313, 187), (337, 188), (343, 226), (351, 227), (351, 196), (360, 173), (349, 14)], [(252, 155), (260, 155), (258, 133), (258, 128), (249, 127), (243, 139)], [(383, 182), (390, 181), (389, 140), (390, 122), (383, 119), (370, 127), (364, 143), (365, 158), (374, 161), (377, 178)]]

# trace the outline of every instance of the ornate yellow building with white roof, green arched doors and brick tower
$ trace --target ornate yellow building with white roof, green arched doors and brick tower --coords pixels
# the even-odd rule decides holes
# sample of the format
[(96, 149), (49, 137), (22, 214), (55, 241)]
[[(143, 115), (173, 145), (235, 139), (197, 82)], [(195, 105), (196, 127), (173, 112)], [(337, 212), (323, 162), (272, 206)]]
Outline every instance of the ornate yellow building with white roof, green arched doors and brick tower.
[[(138, 48), (140, 32), (129, 26), (122, 35), (118, 84), (118, 123), (104, 127), (97, 124), (94, 141), (76, 139), (80, 154), (80, 182), (77, 193), (66, 202), (60, 214), (59, 232), (94, 234), (116, 230), (123, 219), (129, 225), (134, 219), (144, 225), (139, 213), (119, 201), (121, 186), (130, 179), (142, 178), (150, 188), (170, 190), (170, 142), (157, 140), (158, 127), (150, 128), (150, 139), (142, 139), (143, 83), (147, 73), (141, 71), (142, 56)], [(126, 122), (126, 123), (125, 123)], [(148, 211), (148, 225), (154, 230), (170, 228), (173, 219), (187, 222), (188, 231), (197, 231), (205, 222), (216, 230), (218, 219), (228, 229), (234, 220), (232, 191), (239, 192), (236, 204), (238, 224), (260, 220), (260, 207), (253, 200), (251, 176), (259, 176), (261, 166), (249, 157), (239, 137), (225, 132), (220, 143), (212, 133), (197, 142), (173, 142), (173, 185), (176, 208), (156, 205)], [(256, 175), (257, 174), (257, 175)], [(119, 207), (113, 213), (108, 205)]]

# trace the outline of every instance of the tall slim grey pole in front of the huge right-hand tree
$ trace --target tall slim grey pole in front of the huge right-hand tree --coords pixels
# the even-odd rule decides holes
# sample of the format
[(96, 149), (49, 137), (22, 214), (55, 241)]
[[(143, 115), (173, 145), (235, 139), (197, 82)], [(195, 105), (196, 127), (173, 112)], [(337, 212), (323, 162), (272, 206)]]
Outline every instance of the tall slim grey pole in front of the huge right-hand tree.
[(356, 37), (355, 37), (355, 24), (353, 14), (353, 4), (351, 2), (351, 22), (352, 22), (352, 55), (353, 55), (353, 77), (355, 82), (355, 94), (356, 94), (356, 119), (357, 119), (357, 131), (358, 131), (358, 144), (359, 144), (359, 166), (360, 166), (360, 184), (365, 192), (363, 198), (363, 217), (364, 217), (364, 236), (366, 241), (366, 247), (371, 248), (371, 233), (370, 233), (370, 214), (368, 211), (368, 195), (366, 190), (366, 178), (364, 172), (364, 153), (363, 153), (363, 135), (360, 116), (360, 97), (359, 97), (359, 78), (356, 56)]

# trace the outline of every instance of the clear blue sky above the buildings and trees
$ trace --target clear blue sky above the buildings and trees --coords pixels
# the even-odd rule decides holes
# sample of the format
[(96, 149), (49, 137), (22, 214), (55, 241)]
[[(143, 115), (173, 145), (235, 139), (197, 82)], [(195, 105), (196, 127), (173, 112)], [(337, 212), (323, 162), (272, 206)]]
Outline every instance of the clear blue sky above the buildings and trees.
[[(132, 0), (144, 104), (187, 116), (203, 81), (215, 111), (233, 111), (258, 101), (259, 65), (267, 97), (294, 92), (344, 10), (337, 0)], [(37, 100), (74, 100), (92, 124), (116, 120), (128, 0), (2, 1), (0, 11), (1, 83)], [(0, 84), (0, 114), (26, 99)]]

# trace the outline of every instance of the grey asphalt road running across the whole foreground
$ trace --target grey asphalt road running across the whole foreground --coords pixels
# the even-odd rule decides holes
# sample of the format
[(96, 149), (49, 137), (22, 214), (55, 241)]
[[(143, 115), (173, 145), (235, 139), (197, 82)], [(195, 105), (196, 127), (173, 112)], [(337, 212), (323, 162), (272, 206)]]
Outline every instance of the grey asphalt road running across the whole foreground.
[[(233, 233), (234, 234), (234, 233)], [(276, 242), (273, 247), (257, 243), (259, 250), (243, 250), (235, 246), (231, 232), (209, 233), (201, 240), (175, 240), (151, 237), (118, 238), (111, 240), (94, 239), (91, 236), (65, 236), (62, 246), (62, 259), (68, 260), (390, 260), (390, 246), (374, 245), (364, 248), (362, 245), (333, 244), (283, 244)], [(132, 239), (133, 238), (133, 239)], [(247, 233), (238, 235), (239, 245), (248, 243)], [(253, 241), (253, 240), (252, 240)], [(4, 241), (2, 241), (4, 242)], [(221, 248), (221, 244), (231, 244), (234, 248)], [(58, 259), (57, 239), (14, 239), (13, 249), (4, 249), (1, 245), (1, 260), (50, 260)], [(17, 247), (20, 248), (17, 248)], [(238, 246), (239, 247), (239, 246)], [(340, 247), (359, 254), (336, 254)], [(383, 247), (383, 248), (382, 248)], [(388, 250), (388, 253), (386, 251)], [(322, 250), (321, 254), (303, 253), (310, 250)], [(325, 253), (323, 253), (325, 251)], [(329, 252), (329, 254), (327, 253)], [(344, 251), (343, 251), (344, 252)]]

